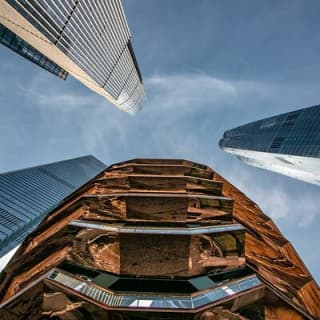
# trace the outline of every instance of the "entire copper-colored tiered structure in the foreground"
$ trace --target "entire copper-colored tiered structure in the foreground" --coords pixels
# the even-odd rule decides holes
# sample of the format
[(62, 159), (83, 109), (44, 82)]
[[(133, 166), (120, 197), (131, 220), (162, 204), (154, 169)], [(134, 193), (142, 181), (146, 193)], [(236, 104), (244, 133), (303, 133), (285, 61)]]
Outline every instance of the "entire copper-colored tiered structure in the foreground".
[(275, 224), (209, 167), (115, 164), (1, 274), (0, 319), (319, 319), (319, 287)]

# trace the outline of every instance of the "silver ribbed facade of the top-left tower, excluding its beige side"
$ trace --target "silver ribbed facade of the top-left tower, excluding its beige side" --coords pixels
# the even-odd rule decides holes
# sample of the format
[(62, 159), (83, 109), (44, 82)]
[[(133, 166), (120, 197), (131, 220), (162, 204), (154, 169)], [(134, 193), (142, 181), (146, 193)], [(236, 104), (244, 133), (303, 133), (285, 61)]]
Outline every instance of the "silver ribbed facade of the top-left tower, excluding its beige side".
[(111, 95), (121, 109), (139, 108), (144, 97), (142, 79), (119, 0), (8, 2)]

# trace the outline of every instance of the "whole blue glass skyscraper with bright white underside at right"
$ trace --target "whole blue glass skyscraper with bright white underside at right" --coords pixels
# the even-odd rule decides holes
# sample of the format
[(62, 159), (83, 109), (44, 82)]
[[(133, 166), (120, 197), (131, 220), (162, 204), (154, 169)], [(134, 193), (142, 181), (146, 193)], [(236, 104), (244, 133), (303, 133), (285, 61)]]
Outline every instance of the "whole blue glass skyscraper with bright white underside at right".
[(247, 164), (320, 185), (320, 105), (228, 130), (220, 147)]

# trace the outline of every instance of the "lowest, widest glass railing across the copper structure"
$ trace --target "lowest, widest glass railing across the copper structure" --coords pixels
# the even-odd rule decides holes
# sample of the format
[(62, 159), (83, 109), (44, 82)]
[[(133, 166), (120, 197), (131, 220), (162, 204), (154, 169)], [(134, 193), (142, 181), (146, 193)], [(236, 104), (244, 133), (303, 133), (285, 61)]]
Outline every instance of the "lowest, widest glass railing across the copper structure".
[(108, 307), (146, 309), (196, 309), (221, 299), (231, 299), (262, 284), (256, 275), (249, 275), (190, 295), (145, 292), (114, 293), (102, 289), (90, 281), (78, 279), (60, 269), (54, 269), (48, 276), (48, 279), (103, 303)]

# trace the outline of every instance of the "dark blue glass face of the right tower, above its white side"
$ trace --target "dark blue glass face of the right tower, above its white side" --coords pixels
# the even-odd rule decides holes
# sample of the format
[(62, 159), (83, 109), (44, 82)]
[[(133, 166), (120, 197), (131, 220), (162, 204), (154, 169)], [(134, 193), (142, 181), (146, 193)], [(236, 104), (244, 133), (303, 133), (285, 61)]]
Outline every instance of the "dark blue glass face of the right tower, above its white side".
[(228, 130), (224, 133), (220, 146), (320, 157), (320, 105)]

